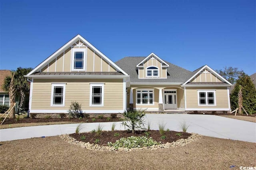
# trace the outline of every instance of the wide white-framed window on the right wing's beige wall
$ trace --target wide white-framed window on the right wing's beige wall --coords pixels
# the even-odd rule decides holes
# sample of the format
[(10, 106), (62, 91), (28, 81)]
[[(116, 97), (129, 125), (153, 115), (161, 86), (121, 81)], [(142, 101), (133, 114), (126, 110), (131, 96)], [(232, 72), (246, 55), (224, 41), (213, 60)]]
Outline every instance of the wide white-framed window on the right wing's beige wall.
[(216, 95), (215, 91), (211, 90), (198, 90), (198, 105), (213, 105), (216, 106)]

